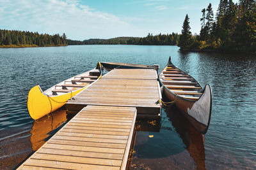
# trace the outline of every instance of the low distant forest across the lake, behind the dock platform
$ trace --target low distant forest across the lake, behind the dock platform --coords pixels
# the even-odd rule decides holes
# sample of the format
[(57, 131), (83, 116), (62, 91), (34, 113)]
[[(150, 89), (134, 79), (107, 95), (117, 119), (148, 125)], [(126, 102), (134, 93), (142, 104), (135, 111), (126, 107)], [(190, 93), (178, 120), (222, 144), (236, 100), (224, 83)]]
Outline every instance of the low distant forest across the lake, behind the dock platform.
[(179, 34), (153, 34), (139, 37), (118, 37), (111, 39), (86, 39), (84, 41), (67, 40), (68, 45), (178, 45)]

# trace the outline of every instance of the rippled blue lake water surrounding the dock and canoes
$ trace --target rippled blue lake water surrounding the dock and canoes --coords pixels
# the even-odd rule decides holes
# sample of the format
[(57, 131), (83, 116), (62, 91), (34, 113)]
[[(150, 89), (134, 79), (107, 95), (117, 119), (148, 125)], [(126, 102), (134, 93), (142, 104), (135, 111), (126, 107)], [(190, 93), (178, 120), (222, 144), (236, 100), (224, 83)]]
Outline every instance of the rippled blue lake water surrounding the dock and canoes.
[(36, 122), (29, 117), (26, 96), (36, 83), (46, 90), (98, 61), (163, 69), (169, 56), (203, 87), (211, 85), (209, 130), (203, 138), (175, 106), (163, 108), (160, 122), (136, 122), (129, 169), (255, 169), (256, 56), (134, 45), (0, 48), (0, 169), (16, 167), (69, 118), (61, 110)]

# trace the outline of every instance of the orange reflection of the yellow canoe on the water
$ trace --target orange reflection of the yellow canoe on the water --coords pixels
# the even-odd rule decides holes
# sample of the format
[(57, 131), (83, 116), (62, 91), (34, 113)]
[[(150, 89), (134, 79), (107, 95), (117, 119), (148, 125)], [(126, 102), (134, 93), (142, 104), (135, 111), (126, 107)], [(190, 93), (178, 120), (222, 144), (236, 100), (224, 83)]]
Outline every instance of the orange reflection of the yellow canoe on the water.
[(66, 120), (66, 110), (58, 110), (33, 122), (33, 126), (30, 131), (32, 150), (36, 151), (38, 148), (44, 145), (45, 139), (52, 134), (51, 131), (57, 127), (60, 127), (60, 125)]

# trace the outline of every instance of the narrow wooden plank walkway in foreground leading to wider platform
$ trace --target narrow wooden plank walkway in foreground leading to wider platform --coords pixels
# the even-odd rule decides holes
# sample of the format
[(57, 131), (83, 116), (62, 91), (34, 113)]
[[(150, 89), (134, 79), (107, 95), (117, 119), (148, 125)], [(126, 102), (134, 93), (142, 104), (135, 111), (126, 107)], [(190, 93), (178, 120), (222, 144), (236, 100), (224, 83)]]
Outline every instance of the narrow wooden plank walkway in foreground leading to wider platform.
[(18, 169), (125, 169), (136, 108), (86, 106)]

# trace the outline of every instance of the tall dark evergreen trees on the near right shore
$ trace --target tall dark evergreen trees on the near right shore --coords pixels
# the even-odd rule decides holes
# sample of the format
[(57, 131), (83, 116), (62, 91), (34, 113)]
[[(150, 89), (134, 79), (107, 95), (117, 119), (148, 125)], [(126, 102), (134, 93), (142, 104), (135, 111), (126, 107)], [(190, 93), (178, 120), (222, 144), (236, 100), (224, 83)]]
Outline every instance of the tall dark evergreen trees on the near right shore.
[(192, 36), (189, 17), (182, 26), (179, 45), (181, 50), (221, 50), (256, 52), (255, 0), (220, 0), (214, 18), (211, 3), (202, 10), (201, 30)]

